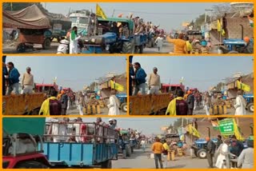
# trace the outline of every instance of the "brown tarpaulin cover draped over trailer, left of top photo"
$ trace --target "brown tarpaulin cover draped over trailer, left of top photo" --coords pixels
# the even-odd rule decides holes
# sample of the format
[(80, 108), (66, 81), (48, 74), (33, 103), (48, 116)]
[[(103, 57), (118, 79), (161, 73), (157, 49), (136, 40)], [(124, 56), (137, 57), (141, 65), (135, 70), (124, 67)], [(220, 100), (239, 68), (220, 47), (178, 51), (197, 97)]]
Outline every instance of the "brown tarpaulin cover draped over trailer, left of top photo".
[(2, 11), (2, 26), (18, 29), (48, 29), (50, 21), (38, 6), (33, 5), (23, 10)]

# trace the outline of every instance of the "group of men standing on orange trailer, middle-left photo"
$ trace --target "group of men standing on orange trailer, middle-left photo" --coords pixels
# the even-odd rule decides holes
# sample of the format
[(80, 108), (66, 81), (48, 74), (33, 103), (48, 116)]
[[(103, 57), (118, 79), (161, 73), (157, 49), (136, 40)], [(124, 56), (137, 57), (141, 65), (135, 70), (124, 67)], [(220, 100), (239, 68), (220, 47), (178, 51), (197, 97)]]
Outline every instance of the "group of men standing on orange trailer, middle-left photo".
[(21, 75), (14, 67), (13, 62), (2, 62), (2, 94), (10, 95), (11, 93), (19, 94), (20, 85), (22, 85), (22, 94), (33, 93), (34, 76), (31, 74), (31, 68), (26, 68), (26, 73)]

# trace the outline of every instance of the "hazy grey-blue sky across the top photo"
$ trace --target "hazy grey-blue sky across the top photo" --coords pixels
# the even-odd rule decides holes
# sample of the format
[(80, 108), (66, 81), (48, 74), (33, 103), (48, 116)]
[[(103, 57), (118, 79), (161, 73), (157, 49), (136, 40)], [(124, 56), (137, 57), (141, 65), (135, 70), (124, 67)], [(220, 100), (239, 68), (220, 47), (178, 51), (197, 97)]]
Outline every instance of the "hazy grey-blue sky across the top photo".
[[(46, 10), (51, 13), (68, 14), (69, 10), (93, 10), (95, 12), (96, 3), (42, 3)], [(181, 29), (182, 22), (191, 22), (200, 14), (205, 14), (205, 10), (212, 9), (212, 6), (220, 3), (99, 3), (107, 17), (114, 17), (123, 14), (123, 17), (130, 13), (143, 18), (144, 21), (151, 21), (154, 25), (160, 25), (162, 29)]]

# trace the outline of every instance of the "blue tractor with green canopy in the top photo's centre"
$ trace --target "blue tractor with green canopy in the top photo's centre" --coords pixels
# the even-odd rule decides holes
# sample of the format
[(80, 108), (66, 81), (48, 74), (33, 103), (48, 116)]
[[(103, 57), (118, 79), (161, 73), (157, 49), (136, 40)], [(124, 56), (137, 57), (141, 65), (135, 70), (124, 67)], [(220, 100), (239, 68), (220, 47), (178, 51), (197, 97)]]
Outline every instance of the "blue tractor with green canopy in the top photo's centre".
[[(122, 26), (122, 32), (110, 30), (114, 23)], [(119, 27), (118, 27), (119, 28)], [(100, 31), (99, 31), (100, 30)], [(143, 53), (146, 46), (146, 34), (134, 35), (134, 21), (128, 18), (98, 18), (98, 35), (83, 39), (82, 54)]]

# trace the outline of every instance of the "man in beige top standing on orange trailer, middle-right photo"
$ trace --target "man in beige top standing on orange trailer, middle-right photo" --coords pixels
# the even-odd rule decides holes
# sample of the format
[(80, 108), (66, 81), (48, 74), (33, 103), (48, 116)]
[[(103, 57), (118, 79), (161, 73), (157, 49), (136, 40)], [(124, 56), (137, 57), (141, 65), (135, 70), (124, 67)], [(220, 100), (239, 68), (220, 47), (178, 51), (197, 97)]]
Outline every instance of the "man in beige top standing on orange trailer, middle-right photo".
[(149, 94), (158, 94), (159, 89), (161, 88), (160, 76), (158, 75), (158, 69), (154, 67), (153, 73), (150, 74), (148, 81), (149, 85)]

